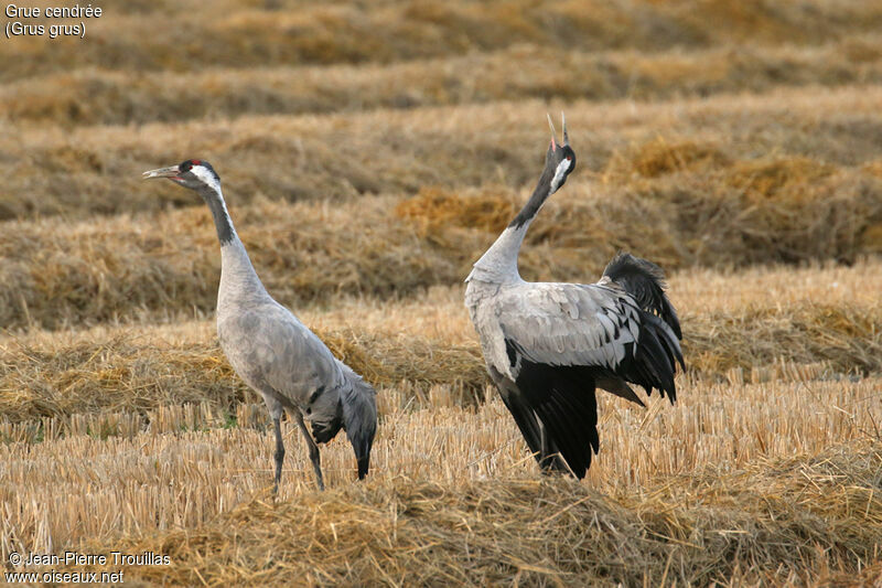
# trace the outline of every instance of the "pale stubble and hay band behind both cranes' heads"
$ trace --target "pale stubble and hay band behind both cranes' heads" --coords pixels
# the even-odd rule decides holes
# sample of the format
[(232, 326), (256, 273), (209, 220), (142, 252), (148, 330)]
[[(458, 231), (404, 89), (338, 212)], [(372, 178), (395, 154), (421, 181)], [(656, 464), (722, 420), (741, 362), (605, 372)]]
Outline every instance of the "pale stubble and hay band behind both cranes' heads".
[[(880, 104), (882, 92), (874, 86), (842, 86), (822, 95), (805, 88), (718, 95), (638, 109), (632, 100), (573, 101), (562, 107), (579, 157), (571, 181), (600, 172), (613, 200), (647, 190), (642, 186), (658, 191), (653, 180), (664, 184), (664, 175), (677, 171), (692, 177), (687, 190), (699, 194), (763, 191), (738, 174), (730, 178), (739, 170), (747, 178), (773, 173), (805, 182), (816, 178), (811, 168), (817, 167), (828, 170), (826, 177), (857, 173), (867, 182), (879, 177), (882, 160), (882, 132), (874, 122)], [(431, 185), (528, 191), (541, 165), (548, 133), (541, 116), (548, 108), (521, 100), (321, 117), (244, 116), (137, 129), (12, 125), (14, 131), (0, 138), (0, 174), (7, 178), (0, 220), (196, 206), (198, 199), (190, 192), (141, 180), (144, 169), (185, 157), (214, 162), (234, 214), (261, 196), (353, 201), (377, 193), (407, 196)], [(821, 119), (819, 108), (836, 114)], [(773, 170), (764, 170), (770, 165)], [(571, 189), (567, 192), (571, 197)]]

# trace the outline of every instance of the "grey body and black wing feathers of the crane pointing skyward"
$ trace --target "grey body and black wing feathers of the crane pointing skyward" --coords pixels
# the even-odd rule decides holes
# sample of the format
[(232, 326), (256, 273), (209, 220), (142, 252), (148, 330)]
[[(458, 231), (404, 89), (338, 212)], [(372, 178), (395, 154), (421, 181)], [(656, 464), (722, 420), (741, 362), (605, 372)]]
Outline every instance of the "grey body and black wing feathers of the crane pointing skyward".
[(676, 397), (677, 335), (616, 282), (521, 282), (488, 310), (474, 316), (484, 356), (542, 467), (584, 477), (599, 447), (595, 386), (638, 404), (626, 382)]

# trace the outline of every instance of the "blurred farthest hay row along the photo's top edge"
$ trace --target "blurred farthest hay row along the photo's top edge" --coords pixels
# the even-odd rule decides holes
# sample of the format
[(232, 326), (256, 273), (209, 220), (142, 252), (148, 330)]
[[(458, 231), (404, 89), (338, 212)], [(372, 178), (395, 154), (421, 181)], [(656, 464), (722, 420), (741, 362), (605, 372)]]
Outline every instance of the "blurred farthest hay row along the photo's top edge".
[[(287, 7), (284, 4), (288, 4)], [(126, 71), (197, 71), (224, 64), (388, 63), (493, 51), (515, 44), (598, 51), (664, 51), (731, 43), (811, 44), (878, 31), (882, 12), (872, 2), (845, 9), (829, 0), (805, 4), (733, 6), (724, 0), (681, 2), (386, 2), (333, 7), (279, 2), (259, 9), (232, 4), (201, 18), (198, 4), (106, 7), (89, 22), (89, 43), (7, 43), (3, 82), (72, 71), (82, 64)], [(39, 22), (39, 21), (35, 21)], [(158, 23), (162, 26), (158, 26)], [(725, 22), (725, 28), (716, 26)], [(47, 23), (46, 23), (47, 24)], [(131, 35), (148, 26), (150, 35)], [(65, 42), (68, 41), (68, 42)], [(181, 47), (185, 47), (182, 50)]]

